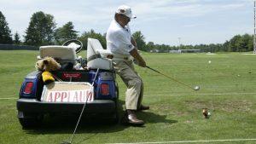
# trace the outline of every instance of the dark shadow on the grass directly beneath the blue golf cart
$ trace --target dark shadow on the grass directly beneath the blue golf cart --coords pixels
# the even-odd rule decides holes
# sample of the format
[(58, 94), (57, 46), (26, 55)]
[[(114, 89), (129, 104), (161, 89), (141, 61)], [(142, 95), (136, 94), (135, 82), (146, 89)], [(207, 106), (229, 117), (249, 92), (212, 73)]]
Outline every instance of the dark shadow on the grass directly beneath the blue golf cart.
[[(78, 122), (78, 116), (61, 117), (55, 116), (45, 118), (43, 124), (38, 127), (26, 129), (27, 134), (73, 134), (73, 130)], [(108, 119), (103, 118), (81, 118), (76, 134), (81, 133), (112, 133), (125, 130), (126, 126), (113, 124)]]

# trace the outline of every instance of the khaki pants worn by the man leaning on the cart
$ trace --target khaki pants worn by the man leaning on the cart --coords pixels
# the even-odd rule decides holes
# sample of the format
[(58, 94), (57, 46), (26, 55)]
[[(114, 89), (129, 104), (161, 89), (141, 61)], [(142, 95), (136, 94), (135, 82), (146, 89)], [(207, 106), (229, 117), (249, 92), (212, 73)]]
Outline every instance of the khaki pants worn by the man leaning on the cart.
[(113, 60), (115, 72), (122, 78), (127, 90), (125, 92), (125, 107), (137, 110), (143, 101), (143, 80), (134, 70), (131, 60)]

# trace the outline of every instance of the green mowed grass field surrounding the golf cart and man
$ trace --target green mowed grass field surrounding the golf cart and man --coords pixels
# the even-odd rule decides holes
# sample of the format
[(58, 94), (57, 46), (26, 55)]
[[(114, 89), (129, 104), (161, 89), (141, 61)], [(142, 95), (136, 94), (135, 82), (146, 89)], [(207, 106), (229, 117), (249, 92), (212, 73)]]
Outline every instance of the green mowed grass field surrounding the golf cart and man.
[[(60, 143), (69, 140), (73, 133), (76, 118), (49, 118), (43, 127), (22, 130), (15, 100), (1, 99), (18, 98), (20, 84), (35, 69), (37, 55), (38, 51), (0, 51), (0, 143)], [(145, 85), (143, 103), (150, 106), (149, 111), (137, 114), (145, 120), (145, 126), (81, 124), (74, 143), (256, 138), (256, 55), (144, 53), (143, 57), (148, 66), (185, 84), (200, 85), (201, 90), (193, 91), (136, 67)], [(120, 101), (124, 103), (125, 84), (119, 77), (118, 82)], [(204, 107), (212, 112), (211, 118), (202, 117)], [(62, 122), (56, 124), (56, 121)]]

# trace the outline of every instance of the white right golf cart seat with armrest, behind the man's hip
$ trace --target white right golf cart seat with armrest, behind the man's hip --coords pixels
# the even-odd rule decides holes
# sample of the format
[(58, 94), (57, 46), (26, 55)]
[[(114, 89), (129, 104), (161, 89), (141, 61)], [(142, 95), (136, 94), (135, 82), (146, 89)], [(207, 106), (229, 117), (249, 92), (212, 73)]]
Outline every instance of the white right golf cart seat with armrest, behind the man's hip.
[(88, 38), (87, 43), (87, 66), (91, 69), (100, 68), (103, 70), (113, 70), (112, 60), (107, 55), (111, 55), (109, 50), (103, 49), (102, 44), (97, 39)]

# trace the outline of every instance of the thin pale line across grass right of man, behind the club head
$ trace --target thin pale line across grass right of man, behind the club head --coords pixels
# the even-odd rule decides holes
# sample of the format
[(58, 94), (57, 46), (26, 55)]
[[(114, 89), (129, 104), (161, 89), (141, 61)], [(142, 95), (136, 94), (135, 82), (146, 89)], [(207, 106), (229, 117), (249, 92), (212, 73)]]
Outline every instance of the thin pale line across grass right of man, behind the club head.
[[(171, 93), (171, 92), (170, 92)], [(202, 93), (202, 94), (196, 94), (196, 93), (190, 93), (190, 94), (159, 94), (160, 95), (255, 95), (256, 93)]]

